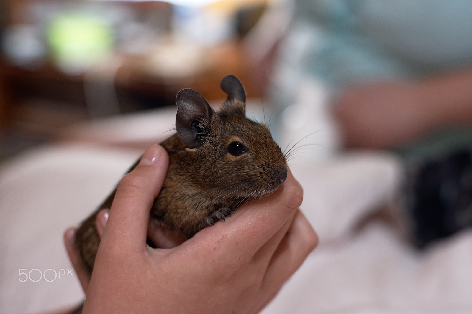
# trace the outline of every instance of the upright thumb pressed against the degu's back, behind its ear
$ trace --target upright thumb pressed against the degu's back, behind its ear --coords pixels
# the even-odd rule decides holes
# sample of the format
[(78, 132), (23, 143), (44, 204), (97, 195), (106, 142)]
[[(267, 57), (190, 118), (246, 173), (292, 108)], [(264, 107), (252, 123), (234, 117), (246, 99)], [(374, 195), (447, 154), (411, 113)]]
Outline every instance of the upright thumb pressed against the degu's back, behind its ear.
[(150, 210), (162, 187), (168, 165), (166, 150), (152, 145), (136, 168), (121, 179), (103, 233), (102, 241), (107, 246), (129, 252), (146, 249)]

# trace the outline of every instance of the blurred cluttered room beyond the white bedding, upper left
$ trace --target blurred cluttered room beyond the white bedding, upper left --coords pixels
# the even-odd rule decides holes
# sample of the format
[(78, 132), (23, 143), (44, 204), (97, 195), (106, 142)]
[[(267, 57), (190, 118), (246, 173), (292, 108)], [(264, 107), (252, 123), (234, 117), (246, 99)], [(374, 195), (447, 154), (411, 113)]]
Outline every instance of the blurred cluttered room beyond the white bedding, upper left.
[(183, 88), (224, 99), (227, 74), (244, 82), (248, 98), (265, 95), (273, 47), (248, 38), (266, 0), (1, 6), (0, 158), (67, 137), (78, 122), (175, 106)]

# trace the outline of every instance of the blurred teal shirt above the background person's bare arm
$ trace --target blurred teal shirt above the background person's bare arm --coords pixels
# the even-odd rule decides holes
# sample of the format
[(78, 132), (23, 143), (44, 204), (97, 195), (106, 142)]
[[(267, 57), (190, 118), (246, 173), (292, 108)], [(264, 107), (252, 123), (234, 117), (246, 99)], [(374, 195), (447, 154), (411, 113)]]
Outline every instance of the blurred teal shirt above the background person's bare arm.
[(303, 75), (333, 87), (472, 61), (470, 0), (298, 0), (295, 21), (316, 37), (300, 59)]

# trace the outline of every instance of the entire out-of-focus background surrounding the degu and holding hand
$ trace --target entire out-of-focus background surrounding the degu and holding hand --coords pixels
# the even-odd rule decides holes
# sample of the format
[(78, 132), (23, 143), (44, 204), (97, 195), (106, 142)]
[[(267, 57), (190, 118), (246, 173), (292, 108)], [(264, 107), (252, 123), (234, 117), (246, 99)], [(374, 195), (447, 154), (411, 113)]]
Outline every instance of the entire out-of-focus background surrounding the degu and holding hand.
[[(236, 75), (320, 245), (264, 314), (472, 313), (472, 1), (3, 0), (0, 313), (71, 307), (62, 232)], [(58, 297), (59, 296), (59, 297)]]

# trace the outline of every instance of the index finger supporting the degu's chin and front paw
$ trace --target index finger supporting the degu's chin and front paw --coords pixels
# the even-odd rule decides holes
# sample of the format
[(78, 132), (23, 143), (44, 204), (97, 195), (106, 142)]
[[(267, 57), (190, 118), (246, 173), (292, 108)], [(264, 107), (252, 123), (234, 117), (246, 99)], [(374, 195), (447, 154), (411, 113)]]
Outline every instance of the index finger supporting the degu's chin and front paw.
[(202, 242), (211, 242), (204, 246), (208, 251), (202, 254), (219, 253), (218, 258), (235, 259), (225, 252), (233, 252), (238, 247), (238, 260), (248, 261), (287, 222), (302, 200), (303, 190), (288, 169), (287, 180), (279, 190), (244, 204), (227, 217), (226, 222), (219, 221), (198, 232), (183, 244), (183, 248), (191, 245), (200, 248)]

